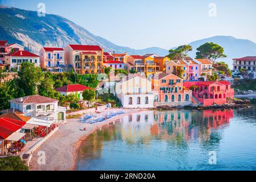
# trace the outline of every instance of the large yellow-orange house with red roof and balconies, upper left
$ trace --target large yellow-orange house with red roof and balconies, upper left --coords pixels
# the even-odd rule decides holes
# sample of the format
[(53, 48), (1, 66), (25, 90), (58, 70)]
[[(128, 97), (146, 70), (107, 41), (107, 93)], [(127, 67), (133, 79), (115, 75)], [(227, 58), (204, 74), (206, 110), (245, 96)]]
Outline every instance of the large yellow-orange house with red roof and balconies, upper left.
[(104, 73), (103, 48), (100, 46), (70, 44), (64, 52), (66, 63), (73, 65), (76, 73)]

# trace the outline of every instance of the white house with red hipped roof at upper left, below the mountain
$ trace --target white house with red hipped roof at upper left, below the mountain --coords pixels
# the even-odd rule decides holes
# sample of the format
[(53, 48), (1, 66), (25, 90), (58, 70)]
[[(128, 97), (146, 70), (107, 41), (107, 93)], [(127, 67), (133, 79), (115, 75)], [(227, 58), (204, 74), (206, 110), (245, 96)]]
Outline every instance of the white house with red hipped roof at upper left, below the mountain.
[(36, 67), (39, 67), (39, 56), (29, 51), (17, 51), (5, 55), (5, 68), (9, 71), (11, 68), (15, 68), (19, 71), (21, 63), (30, 62), (34, 63)]

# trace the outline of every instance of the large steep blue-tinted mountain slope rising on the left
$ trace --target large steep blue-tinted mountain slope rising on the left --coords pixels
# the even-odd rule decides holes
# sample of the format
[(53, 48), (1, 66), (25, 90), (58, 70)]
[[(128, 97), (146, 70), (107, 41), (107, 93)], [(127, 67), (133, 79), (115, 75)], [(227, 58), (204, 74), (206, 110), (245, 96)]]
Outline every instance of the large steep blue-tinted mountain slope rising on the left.
[(42, 46), (66, 47), (67, 44), (93, 44), (103, 47), (105, 51), (128, 52), (130, 55), (168, 54), (168, 50), (159, 47), (133, 49), (117, 46), (62, 16), (46, 14), (39, 17), (36, 11), (3, 5), (0, 6), (0, 39), (8, 40), (9, 43), (17, 42), (26, 48), (30, 47), (35, 53), (38, 53)]

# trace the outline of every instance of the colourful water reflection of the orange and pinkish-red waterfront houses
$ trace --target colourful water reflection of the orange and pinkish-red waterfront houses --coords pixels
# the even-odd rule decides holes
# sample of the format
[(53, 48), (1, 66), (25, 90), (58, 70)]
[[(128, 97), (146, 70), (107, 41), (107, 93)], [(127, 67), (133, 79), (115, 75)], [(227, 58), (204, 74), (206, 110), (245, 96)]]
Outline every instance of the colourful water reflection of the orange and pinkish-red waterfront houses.
[(155, 111), (153, 117), (155, 122), (151, 127), (152, 135), (160, 135), (165, 139), (181, 137), (186, 141), (208, 140), (211, 130), (229, 123), (229, 119), (233, 118), (233, 110)]

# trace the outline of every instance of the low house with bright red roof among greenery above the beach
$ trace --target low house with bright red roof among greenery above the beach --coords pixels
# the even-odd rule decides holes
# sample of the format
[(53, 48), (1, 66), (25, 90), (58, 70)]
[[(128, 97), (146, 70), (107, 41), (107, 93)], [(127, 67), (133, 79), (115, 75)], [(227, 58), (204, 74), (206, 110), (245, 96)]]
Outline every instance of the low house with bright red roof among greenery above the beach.
[(68, 94), (78, 94), (78, 98), (80, 100), (83, 100), (83, 91), (88, 89), (91, 88), (81, 84), (70, 84), (56, 88), (55, 90), (56, 92), (59, 92), (62, 96), (67, 96)]

